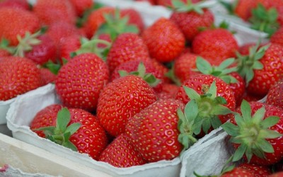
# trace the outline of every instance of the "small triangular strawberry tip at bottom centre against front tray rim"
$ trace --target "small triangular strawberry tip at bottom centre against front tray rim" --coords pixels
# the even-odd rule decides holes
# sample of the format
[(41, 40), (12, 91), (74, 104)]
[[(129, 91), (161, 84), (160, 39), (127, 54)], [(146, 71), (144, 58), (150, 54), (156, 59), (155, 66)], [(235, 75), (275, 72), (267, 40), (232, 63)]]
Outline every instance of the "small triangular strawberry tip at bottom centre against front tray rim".
[(116, 137), (100, 154), (98, 161), (105, 161), (112, 166), (127, 168), (146, 164), (141, 154), (134, 149), (129, 137), (122, 134)]

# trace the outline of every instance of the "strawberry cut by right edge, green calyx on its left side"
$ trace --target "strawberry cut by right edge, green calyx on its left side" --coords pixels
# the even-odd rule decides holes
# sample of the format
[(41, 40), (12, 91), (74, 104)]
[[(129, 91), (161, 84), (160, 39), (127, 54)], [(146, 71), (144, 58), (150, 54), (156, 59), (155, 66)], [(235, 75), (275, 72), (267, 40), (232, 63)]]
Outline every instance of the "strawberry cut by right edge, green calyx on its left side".
[(256, 45), (248, 55), (238, 54), (237, 60), (238, 72), (246, 80), (246, 91), (255, 96), (265, 96), (283, 74), (282, 45)]

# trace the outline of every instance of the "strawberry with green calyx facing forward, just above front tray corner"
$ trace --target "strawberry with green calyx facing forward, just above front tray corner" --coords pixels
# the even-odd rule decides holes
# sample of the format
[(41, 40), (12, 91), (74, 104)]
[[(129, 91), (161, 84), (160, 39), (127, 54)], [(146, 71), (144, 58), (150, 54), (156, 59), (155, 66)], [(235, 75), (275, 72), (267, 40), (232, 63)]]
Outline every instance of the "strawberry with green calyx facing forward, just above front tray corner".
[[(190, 103), (197, 108), (195, 122), (199, 122), (194, 130), (200, 137), (201, 130), (207, 134), (212, 127), (216, 129), (229, 120), (231, 111), (236, 108), (233, 91), (228, 84), (216, 76), (199, 74), (183, 83), (175, 99)], [(190, 109), (193, 109), (191, 108)]]

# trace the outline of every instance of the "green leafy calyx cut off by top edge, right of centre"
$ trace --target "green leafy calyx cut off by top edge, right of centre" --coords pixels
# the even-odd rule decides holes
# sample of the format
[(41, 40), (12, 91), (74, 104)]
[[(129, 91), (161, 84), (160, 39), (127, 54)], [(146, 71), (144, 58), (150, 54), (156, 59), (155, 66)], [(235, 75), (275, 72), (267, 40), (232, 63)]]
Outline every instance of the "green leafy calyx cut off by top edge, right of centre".
[(211, 3), (207, 3), (207, 2), (198, 2), (198, 3), (192, 3), (191, 0), (187, 0), (186, 3), (184, 3), (183, 1), (180, 0), (173, 0), (172, 1), (172, 8), (173, 11), (178, 11), (178, 12), (191, 12), (191, 11), (195, 11), (198, 14), (203, 14), (204, 8), (209, 8), (212, 6)]

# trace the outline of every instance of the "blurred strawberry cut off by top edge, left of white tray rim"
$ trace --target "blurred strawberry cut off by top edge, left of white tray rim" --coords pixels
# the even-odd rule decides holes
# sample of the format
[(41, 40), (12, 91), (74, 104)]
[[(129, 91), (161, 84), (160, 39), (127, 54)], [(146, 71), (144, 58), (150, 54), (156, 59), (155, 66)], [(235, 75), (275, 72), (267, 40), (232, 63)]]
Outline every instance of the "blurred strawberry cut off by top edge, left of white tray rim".
[(94, 1), (92, 0), (69, 0), (74, 6), (77, 16), (83, 16), (83, 12), (94, 6)]

